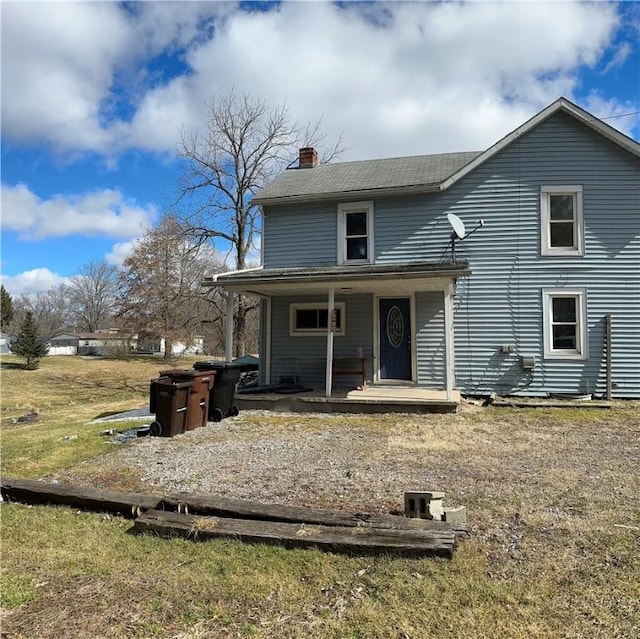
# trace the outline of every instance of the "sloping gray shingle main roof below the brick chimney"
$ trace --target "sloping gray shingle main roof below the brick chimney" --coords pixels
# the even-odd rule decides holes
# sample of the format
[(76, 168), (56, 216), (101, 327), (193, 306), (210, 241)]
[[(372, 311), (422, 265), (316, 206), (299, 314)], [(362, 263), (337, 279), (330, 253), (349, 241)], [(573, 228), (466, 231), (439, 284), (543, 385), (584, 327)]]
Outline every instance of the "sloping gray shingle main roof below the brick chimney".
[(321, 164), (312, 169), (288, 169), (254, 198), (256, 204), (280, 199), (366, 194), (375, 191), (434, 188), (480, 152), (439, 153), (381, 160)]

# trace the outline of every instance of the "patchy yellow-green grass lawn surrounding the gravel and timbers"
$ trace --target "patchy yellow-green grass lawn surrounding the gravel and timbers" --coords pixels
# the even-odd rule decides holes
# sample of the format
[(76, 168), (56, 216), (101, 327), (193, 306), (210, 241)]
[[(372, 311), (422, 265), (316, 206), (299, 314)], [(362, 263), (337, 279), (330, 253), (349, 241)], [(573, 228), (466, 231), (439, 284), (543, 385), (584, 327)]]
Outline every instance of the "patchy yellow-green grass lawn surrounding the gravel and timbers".
[[(17, 361), (3, 357), (0, 406), (2, 473), (18, 477), (99, 467), (114, 448), (88, 422), (144, 405), (164, 368)], [(13, 423), (33, 407), (37, 422)], [(237, 419), (247, 437), (267, 427)], [(264, 421), (304, 438), (336, 419)], [(447, 503), (468, 507), (453, 560), (138, 537), (118, 517), (5, 503), (2, 637), (640, 636), (640, 402), (339, 419), (371, 433), (377, 454), (422, 460)]]

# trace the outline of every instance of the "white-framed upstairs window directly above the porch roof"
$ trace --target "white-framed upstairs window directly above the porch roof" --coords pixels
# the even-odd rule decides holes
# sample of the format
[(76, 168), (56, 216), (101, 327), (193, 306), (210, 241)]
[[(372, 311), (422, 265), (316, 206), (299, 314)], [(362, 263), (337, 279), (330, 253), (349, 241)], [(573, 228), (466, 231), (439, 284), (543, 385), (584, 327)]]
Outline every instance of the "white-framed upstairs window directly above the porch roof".
[(373, 202), (338, 206), (338, 264), (373, 262)]

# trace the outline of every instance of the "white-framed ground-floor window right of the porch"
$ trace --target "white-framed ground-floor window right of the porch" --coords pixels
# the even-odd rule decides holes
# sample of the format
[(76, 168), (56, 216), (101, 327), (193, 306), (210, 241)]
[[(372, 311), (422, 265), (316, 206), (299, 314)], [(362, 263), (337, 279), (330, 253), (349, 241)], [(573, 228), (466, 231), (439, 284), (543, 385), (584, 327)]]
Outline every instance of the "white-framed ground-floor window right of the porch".
[(584, 290), (545, 290), (543, 309), (545, 357), (586, 359)]

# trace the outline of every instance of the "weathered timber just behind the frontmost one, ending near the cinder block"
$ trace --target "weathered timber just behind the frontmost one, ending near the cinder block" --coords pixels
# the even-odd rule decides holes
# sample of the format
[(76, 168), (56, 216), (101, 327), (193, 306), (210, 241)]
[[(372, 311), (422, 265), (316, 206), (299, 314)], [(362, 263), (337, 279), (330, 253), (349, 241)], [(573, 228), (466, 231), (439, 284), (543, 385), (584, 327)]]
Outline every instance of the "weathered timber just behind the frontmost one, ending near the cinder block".
[(265, 504), (244, 499), (217, 497), (197, 493), (168, 493), (162, 500), (161, 509), (178, 512), (232, 517), (262, 521), (280, 521), (322, 526), (362, 526), (392, 530), (453, 530), (465, 533), (466, 524), (452, 524), (442, 521), (401, 517), (385, 513), (350, 513), (335, 510)]

